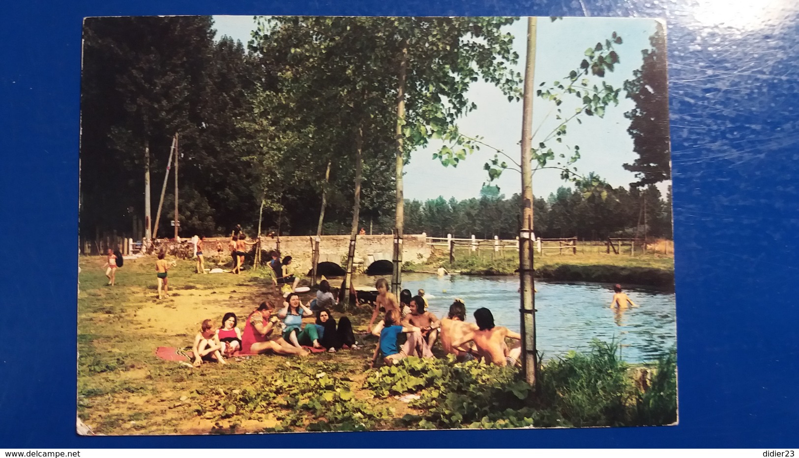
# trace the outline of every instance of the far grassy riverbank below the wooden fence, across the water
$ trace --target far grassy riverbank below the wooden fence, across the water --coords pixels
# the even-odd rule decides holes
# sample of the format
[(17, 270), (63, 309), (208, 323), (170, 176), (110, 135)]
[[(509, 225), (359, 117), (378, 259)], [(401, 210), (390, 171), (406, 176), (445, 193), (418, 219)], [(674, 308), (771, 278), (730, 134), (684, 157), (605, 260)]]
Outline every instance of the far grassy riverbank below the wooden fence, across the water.
[[(446, 267), (467, 275), (512, 275), (519, 268), (516, 252), (474, 252), (467, 248), (455, 251), (453, 263), (449, 255), (434, 252), (427, 263), (405, 263), (403, 270), (434, 272)], [(584, 282), (612, 282), (651, 286), (674, 285), (674, 257), (662, 254), (614, 255), (598, 251), (580, 251), (562, 255), (556, 253), (535, 254), (535, 274), (548, 280)]]

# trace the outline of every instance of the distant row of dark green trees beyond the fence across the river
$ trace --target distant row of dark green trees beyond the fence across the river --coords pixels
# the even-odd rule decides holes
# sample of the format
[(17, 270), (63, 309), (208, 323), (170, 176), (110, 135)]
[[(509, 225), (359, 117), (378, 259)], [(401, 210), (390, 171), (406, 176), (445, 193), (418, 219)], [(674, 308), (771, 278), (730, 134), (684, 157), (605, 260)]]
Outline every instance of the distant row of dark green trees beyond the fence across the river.
[[(574, 237), (600, 240), (606, 237), (647, 237), (670, 239), (671, 195), (658, 188), (610, 188), (601, 193), (561, 187), (547, 199), (535, 199), (535, 235), (545, 239)], [(646, 207), (646, 215), (645, 215)], [(408, 233), (426, 232), (431, 237), (514, 239), (518, 234), (519, 195), (506, 199), (494, 187), (483, 188), (479, 199), (405, 204)], [(645, 226), (646, 219), (646, 226)]]

